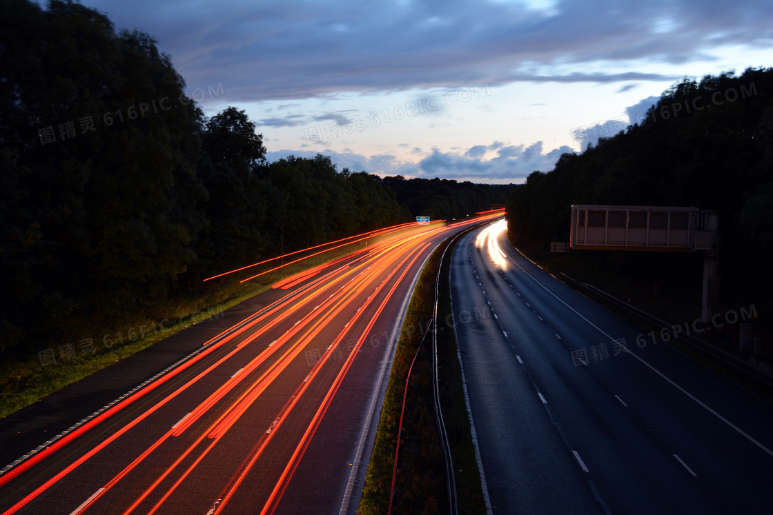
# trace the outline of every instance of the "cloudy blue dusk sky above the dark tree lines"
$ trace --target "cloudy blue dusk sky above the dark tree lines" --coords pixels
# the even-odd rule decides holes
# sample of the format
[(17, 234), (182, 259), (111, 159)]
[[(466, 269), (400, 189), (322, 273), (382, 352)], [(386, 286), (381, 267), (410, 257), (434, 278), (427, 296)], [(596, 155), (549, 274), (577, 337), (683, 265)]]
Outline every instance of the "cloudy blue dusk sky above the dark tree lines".
[(522, 183), (673, 83), (773, 66), (769, 0), (81, 0), (153, 36), (267, 159)]

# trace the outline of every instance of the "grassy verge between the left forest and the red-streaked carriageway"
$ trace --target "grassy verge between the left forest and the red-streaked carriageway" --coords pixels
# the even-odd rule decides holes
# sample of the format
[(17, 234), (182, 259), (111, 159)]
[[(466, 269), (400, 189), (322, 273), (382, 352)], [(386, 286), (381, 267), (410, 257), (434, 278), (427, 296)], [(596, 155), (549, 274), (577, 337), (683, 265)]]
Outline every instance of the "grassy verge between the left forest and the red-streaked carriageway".
[(243, 276), (234, 274), (192, 285), (186, 296), (166, 300), (152, 308), (140, 308), (135, 313), (124, 313), (117, 319), (97, 315), (73, 317), (64, 326), (63, 334), (39, 345), (40, 351), (50, 351), (49, 357), (53, 355), (53, 362), (46, 361), (46, 355), (42, 357), (37, 351), (22, 357), (4, 357), (0, 364), (0, 418), (179, 330), (210, 317), (220, 317), (223, 311), (267, 290), (285, 277), (346, 256), (365, 246), (366, 242), (359, 242), (325, 252), (248, 283), (239, 283)]

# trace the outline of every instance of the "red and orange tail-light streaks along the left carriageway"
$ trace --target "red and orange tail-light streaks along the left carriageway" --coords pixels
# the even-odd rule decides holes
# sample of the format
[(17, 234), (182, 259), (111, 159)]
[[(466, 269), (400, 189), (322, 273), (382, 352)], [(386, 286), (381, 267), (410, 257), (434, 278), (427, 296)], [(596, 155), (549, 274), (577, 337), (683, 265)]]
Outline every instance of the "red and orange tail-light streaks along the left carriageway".
[[(56, 496), (57, 483), (77, 481), (71, 473), (81, 468), (90, 470), (88, 467), (92, 467), (90, 463), (97, 456), (111, 462), (114, 456), (121, 457), (115, 461), (112, 477), (108, 476), (98, 490), (95, 487), (90, 495), (73, 503), (70, 510), (79, 513), (170, 510), (178, 506), (181, 496), (195, 491), (193, 484), (206, 476), (205, 469), (213, 461), (207, 459), (209, 452), (219, 445), (233, 445), (233, 439), (240, 438), (240, 433), (233, 435), (233, 432), (243, 431), (245, 423), (253, 425), (252, 421), (258, 418), (267, 419), (267, 409), (271, 409), (271, 422), (261, 430), (254, 445), (250, 444), (252, 450), (228, 464), (222, 473), (218, 471), (224, 481), (222, 486), (214, 485), (222, 493), (220, 497), (202, 500), (199, 504), (204, 511), (212, 507), (220, 513), (234, 496), (247, 496), (254, 506), (273, 511), (348, 372), (358, 366), (358, 360), (366, 359), (359, 352), (363, 342), (380, 334), (378, 324), (386, 327), (383, 311), (393, 305), (398, 288), (407, 288), (422, 259), (447, 235), (498, 216), (501, 213), (495, 212), (452, 226), (436, 223), (405, 231), (406, 227), (399, 225), (377, 234), (364, 233), (370, 238), (379, 235), (380, 241), (284, 280), (279, 288), (295, 290), (264, 312), (254, 313), (251, 320), (240, 322), (204, 342), (203, 351), (195, 357), (117, 403), (104, 416), (94, 418), (87, 429), (63, 439), (56, 449), (88, 436), (81, 444), (83, 454), (70, 458), (71, 453), (61, 453), (64, 456), (57, 461), (60, 465), (53, 467), (49, 479), (43, 478), (32, 485), (5, 513), (15, 513), (38, 497), (48, 502), (46, 498)], [(415, 226), (415, 223), (409, 225)], [(393, 324), (391, 315), (387, 318)], [(323, 334), (330, 330), (337, 336), (331, 335), (332, 341), (325, 341)], [(341, 348), (347, 334), (356, 341), (347, 346), (349, 354)], [(313, 366), (309, 365), (311, 370), (304, 370), (301, 353), (321, 342), (325, 348), (322, 355)], [(342, 359), (333, 360), (334, 353), (341, 354)], [(268, 388), (272, 388), (274, 398), (267, 396)], [(154, 394), (148, 395), (150, 392)], [(281, 408), (270, 407), (274, 406), (271, 401), (275, 402), (276, 395), (284, 396)], [(303, 409), (299, 405), (301, 398)], [(131, 415), (111, 418), (129, 405), (135, 409)], [(158, 420), (167, 414), (174, 421), (159, 424)], [(290, 425), (284, 424), (288, 418), (293, 420)], [(105, 425), (107, 421), (113, 422)], [(172, 426), (173, 422), (177, 423)], [(148, 435), (152, 439), (148, 440)], [(264, 450), (280, 436), (284, 443), (278, 452), (284, 461), (277, 462), (277, 452), (267, 455)], [(226, 437), (230, 440), (226, 441)], [(56, 449), (31, 459), (19, 472), (12, 470), (0, 476), (0, 487), (25, 480), (29, 476), (25, 474), (27, 469), (59, 456), (59, 452), (54, 452)], [(77, 476), (84, 473), (87, 472), (81, 471)], [(248, 474), (256, 473), (263, 475), (267, 492), (254, 499), (250, 497), (254, 489), (242, 491), (239, 486)], [(225, 483), (227, 478), (230, 479)], [(112, 503), (114, 499), (121, 499), (121, 504)]]

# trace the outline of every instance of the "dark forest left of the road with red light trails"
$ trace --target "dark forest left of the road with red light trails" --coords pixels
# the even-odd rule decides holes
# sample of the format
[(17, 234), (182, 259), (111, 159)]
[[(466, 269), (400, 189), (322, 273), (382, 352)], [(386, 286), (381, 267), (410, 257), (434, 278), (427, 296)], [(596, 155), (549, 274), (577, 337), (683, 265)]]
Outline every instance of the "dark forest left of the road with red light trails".
[[(506, 188), (265, 159), (244, 110), (206, 117), (172, 58), (74, 2), (2, 3), (0, 351), (182, 299), (215, 273), (506, 202)], [(49, 340), (52, 340), (49, 341)]]

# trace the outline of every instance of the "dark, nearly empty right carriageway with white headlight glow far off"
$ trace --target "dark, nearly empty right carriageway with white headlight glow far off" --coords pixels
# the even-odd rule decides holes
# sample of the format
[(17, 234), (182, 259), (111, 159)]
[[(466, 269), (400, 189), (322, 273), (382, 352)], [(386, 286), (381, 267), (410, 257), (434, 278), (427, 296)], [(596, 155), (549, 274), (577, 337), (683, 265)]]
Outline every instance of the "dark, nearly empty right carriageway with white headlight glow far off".
[(523, 257), (504, 221), (451, 261), (490, 513), (770, 513), (773, 407)]

